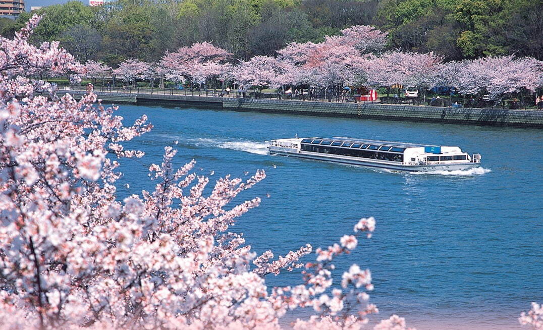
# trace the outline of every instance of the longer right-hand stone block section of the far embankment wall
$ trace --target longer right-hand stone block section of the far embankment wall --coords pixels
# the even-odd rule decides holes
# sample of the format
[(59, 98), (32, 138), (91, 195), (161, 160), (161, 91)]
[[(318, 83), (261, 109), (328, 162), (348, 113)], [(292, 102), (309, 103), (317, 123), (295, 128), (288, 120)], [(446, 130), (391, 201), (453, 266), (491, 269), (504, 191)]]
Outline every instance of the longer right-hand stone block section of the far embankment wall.
[(266, 99), (224, 99), (223, 108), (313, 116), (543, 128), (543, 111), (537, 110), (471, 109)]

